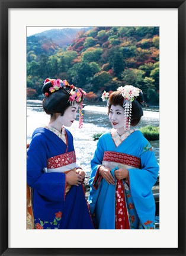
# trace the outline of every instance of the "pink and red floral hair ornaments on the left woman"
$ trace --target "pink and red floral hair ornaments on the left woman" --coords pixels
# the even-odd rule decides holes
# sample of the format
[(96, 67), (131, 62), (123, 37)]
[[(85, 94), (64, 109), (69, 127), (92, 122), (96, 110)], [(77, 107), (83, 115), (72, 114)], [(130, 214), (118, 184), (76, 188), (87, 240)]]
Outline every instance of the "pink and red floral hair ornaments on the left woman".
[[(73, 84), (70, 86), (70, 84), (66, 80), (47, 78), (46, 80), (44, 80), (44, 84), (46, 84), (47, 82), (50, 82), (52, 84), (52, 87), (49, 88), (50, 93), (54, 93), (54, 91), (59, 90), (63, 86), (65, 89), (67, 89), (68, 87), (69, 89), (71, 89), (70, 91), (66, 90), (70, 94), (69, 103), (70, 105), (73, 105), (75, 102), (79, 103), (79, 128), (82, 128), (84, 121), (84, 114), (82, 113), (82, 108), (83, 98), (86, 95), (85, 91), (81, 88), (76, 89)], [(44, 96), (48, 97), (49, 93), (44, 93)]]

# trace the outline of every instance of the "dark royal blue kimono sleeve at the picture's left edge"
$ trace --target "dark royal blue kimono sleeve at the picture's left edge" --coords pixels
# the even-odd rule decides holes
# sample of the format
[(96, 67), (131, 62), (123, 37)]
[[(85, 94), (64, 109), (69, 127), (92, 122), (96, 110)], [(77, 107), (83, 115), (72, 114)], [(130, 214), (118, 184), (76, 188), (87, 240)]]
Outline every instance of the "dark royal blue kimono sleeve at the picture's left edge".
[(43, 168), (47, 167), (47, 148), (41, 136), (34, 135), (28, 148), (27, 183), (48, 200), (65, 200), (65, 173), (43, 173)]

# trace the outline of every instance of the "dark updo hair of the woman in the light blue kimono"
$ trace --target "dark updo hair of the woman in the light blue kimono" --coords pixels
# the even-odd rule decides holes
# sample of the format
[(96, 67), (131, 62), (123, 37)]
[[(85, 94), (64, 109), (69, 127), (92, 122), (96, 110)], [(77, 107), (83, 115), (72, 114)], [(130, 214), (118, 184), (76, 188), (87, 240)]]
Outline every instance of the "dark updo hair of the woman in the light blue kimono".
[[(117, 106), (120, 105), (123, 108), (123, 102), (124, 97), (121, 94), (121, 91), (114, 91), (109, 96), (109, 103), (108, 103), (108, 114), (110, 113), (111, 105)], [(143, 94), (139, 93), (138, 97), (134, 97), (134, 100), (132, 102), (132, 116), (130, 124), (134, 127), (137, 125), (143, 116), (143, 109), (142, 109), (142, 103), (143, 103)]]

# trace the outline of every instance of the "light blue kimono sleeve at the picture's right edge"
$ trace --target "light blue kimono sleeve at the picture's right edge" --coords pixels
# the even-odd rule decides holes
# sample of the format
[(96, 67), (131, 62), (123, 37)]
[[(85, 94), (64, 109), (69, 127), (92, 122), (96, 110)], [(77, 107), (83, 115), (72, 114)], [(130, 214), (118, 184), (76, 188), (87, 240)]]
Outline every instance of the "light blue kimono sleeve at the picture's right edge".
[[(150, 144), (139, 157), (141, 159), (141, 169), (128, 169), (130, 191), (140, 223), (143, 228), (148, 229), (155, 226), (156, 207), (152, 187), (156, 182), (159, 166)], [(149, 226), (149, 223), (151, 226)]]

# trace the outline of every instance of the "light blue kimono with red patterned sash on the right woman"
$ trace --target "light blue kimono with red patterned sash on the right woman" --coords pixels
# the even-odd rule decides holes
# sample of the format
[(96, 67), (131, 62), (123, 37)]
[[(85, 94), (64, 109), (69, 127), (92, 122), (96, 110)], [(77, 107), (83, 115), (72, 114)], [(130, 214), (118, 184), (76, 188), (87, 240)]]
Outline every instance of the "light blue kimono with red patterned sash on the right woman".
[[(113, 177), (114, 170), (127, 169), (129, 177), (114, 177), (115, 185), (108, 185), (98, 173), (101, 165), (110, 168)], [(152, 187), (159, 166), (142, 132), (133, 129), (122, 139), (116, 129), (101, 135), (91, 169), (88, 201), (95, 228), (155, 229)]]

